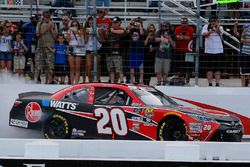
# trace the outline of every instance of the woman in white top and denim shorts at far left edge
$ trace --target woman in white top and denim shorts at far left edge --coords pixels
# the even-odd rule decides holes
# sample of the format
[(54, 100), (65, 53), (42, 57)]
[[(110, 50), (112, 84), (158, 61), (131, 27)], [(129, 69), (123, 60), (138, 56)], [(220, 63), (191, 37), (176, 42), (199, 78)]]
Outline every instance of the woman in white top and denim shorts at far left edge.
[(11, 23), (8, 21), (3, 22), (3, 31), (0, 34), (0, 69), (4, 70), (5, 68), (8, 71), (11, 71), (12, 65), (12, 47), (11, 47)]

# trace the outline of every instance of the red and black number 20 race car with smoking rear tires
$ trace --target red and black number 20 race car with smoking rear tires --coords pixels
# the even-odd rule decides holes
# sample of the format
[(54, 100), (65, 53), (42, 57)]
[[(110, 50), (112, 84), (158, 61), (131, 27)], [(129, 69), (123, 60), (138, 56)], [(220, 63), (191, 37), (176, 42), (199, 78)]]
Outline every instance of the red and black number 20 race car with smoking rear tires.
[(154, 87), (91, 83), (19, 94), (10, 126), (50, 139), (241, 141), (236, 116), (184, 107)]

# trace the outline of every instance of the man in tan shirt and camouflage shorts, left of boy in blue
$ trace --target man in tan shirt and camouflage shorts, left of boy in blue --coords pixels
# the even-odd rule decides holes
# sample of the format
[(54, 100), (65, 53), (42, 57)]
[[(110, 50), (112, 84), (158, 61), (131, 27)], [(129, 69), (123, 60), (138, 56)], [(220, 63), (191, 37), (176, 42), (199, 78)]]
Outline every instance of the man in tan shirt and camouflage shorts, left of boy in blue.
[(45, 70), (45, 83), (53, 83), (54, 54), (48, 46), (53, 47), (57, 37), (57, 27), (51, 21), (48, 11), (43, 12), (43, 19), (38, 22), (36, 27), (38, 37), (37, 49), (35, 53), (35, 81), (38, 81), (41, 70)]

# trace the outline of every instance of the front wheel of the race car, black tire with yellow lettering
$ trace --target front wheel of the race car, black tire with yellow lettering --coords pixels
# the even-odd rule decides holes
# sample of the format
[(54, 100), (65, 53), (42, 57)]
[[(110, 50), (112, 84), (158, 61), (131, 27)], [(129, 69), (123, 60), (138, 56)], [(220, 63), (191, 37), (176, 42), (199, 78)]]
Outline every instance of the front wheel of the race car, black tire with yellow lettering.
[(158, 138), (162, 141), (187, 141), (186, 124), (176, 117), (166, 119), (159, 126)]

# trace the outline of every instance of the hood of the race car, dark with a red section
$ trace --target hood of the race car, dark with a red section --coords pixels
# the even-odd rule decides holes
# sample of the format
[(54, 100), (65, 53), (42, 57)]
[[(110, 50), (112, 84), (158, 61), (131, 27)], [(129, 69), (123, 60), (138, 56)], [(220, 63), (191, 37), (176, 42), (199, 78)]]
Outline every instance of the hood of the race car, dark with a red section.
[(171, 105), (171, 106), (163, 106), (160, 107), (161, 109), (167, 109), (167, 110), (175, 110), (177, 112), (182, 112), (186, 114), (198, 114), (202, 116), (206, 116), (209, 118), (212, 118), (217, 121), (238, 121), (239, 118), (237, 118), (234, 115), (228, 114), (223, 111), (218, 110), (211, 110), (211, 109), (203, 109), (203, 108), (191, 108), (191, 107), (184, 107), (181, 105)]

